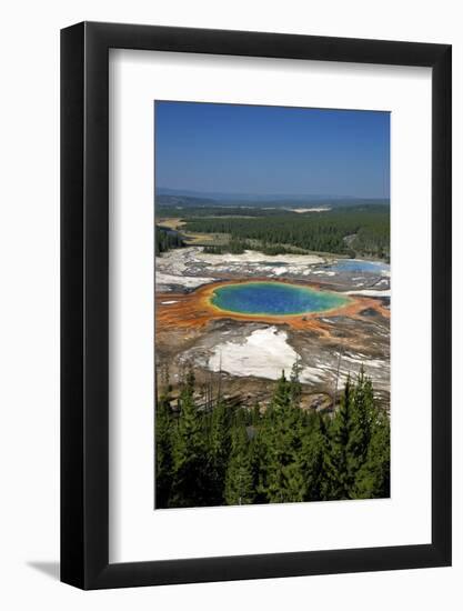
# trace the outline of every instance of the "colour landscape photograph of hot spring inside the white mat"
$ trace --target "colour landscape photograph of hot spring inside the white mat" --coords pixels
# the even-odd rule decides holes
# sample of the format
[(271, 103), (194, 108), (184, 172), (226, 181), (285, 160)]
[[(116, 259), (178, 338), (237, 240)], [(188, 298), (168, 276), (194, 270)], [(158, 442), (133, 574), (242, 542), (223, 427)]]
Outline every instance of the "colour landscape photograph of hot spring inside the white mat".
[(390, 497), (390, 113), (154, 102), (154, 508)]

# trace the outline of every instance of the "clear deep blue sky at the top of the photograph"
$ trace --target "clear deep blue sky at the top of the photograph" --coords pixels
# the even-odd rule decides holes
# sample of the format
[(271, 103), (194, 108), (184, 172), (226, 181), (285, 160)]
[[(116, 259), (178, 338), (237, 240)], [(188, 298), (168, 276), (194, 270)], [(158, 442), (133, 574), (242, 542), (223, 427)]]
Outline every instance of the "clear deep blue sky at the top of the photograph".
[(157, 101), (157, 188), (390, 196), (390, 113)]

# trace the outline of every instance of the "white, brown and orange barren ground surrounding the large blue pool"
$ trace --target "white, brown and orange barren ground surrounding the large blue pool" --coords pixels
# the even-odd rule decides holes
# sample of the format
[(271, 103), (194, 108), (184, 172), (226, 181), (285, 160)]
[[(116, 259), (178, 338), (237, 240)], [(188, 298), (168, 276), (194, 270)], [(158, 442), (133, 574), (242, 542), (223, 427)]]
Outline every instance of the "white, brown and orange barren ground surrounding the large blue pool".
[[(254, 278), (335, 290), (354, 297), (356, 307), (319, 313), (299, 325), (284, 319), (227, 315), (211, 317), (205, 323), (202, 315), (201, 324), (194, 318), (185, 324), (177, 314), (179, 304), (191, 301), (200, 287)], [(155, 291), (157, 363), (174, 391), (182, 367), (192, 363), (199, 388), (209, 388), (204, 397), (220, 385), (230, 401), (240, 395), (245, 404), (264, 405), (273, 380), (282, 370), (289, 375), (298, 361), (302, 407), (332, 409), (345, 378), (363, 365), (379, 400), (389, 408), (390, 272), (385, 263), (324, 254), (207, 254), (201, 247), (189, 247), (157, 258)]]

